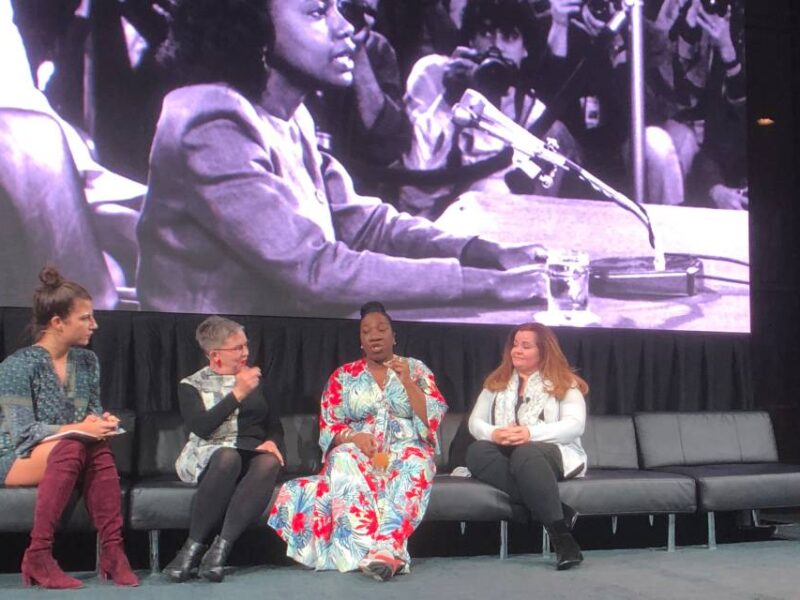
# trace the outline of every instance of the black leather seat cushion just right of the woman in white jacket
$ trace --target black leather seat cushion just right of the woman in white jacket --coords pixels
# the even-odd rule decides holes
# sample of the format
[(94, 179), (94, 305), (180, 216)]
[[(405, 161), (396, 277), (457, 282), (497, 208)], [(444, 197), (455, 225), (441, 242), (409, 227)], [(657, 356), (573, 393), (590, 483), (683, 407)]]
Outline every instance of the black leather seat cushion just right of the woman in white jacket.
[(589, 469), (586, 477), (561, 481), (561, 501), (582, 515), (692, 513), (697, 508), (690, 477), (638, 469)]

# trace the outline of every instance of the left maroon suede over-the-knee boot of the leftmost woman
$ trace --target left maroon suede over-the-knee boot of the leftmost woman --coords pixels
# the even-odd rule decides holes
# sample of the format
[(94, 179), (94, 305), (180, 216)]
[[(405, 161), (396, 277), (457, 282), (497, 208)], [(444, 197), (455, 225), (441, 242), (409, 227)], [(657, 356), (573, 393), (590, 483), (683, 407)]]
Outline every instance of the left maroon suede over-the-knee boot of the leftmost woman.
[(53, 536), (85, 463), (86, 447), (77, 440), (61, 440), (47, 457), (47, 468), (36, 490), (31, 543), (22, 557), (23, 584), (51, 589), (83, 587), (53, 558)]

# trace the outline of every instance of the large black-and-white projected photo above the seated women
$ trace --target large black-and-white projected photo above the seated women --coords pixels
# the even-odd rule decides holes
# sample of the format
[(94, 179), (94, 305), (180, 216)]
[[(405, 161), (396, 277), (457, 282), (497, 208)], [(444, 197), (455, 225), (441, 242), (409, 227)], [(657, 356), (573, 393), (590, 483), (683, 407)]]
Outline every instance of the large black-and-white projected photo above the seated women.
[(0, 0), (0, 306), (750, 331), (743, 0)]

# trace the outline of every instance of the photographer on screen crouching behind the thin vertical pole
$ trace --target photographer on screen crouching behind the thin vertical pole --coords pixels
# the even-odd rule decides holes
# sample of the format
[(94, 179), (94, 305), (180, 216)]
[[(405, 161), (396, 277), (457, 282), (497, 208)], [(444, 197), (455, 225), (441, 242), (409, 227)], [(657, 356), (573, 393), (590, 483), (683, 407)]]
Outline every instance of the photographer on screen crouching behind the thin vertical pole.
[[(539, 28), (547, 31), (539, 90), (549, 110), (575, 136), (585, 166), (612, 186), (630, 185), (630, 65), (622, 0), (539, 0)], [(666, 33), (645, 18), (645, 201), (680, 204), (683, 175), (662, 127), (669, 115), (659, 97), (659, 66), (670, 60)]]

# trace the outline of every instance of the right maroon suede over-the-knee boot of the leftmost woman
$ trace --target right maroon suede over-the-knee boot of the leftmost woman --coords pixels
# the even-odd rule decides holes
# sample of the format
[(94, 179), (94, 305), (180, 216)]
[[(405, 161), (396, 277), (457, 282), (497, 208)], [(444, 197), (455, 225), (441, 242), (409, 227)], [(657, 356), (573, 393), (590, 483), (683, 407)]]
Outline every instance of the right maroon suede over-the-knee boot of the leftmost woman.
[(136, 577), (122, 545), (119, 474), (106, 442), (87, 447), (83, 499), (100, 536), (100, 579), (117, 585), (137, 586)]

